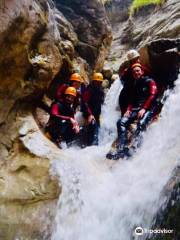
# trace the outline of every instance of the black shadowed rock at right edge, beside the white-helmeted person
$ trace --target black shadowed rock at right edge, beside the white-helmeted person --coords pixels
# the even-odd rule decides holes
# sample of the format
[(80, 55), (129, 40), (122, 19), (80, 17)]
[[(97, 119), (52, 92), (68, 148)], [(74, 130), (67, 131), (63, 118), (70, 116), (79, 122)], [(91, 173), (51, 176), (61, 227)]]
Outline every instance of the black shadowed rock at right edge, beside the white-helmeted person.
[(180, 68), (180, 39), (158, 39), (139, 51), (141, 61), (165, 89), (174, 87)]

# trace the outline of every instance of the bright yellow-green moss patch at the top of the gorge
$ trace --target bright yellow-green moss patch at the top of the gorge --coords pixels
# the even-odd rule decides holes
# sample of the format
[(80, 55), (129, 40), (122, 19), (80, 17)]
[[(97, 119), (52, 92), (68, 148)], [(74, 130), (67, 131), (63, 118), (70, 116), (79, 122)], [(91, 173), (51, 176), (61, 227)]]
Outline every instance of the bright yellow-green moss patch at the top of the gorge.
[(150, 5), (150, 4), (161, 4), (164, 0), (134, 0), (130, 7), (130, 15), (133, 15), (133, 13), (136, 10), (139, 10), (140, 8)]

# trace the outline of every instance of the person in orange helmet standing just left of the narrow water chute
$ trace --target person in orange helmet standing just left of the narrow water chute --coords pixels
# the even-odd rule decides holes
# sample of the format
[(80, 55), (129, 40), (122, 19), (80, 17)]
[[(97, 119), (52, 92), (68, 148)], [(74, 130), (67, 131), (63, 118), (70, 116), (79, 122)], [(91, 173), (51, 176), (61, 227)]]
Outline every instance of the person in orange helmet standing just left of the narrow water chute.
[(87, 145), (98, 145), (101, 106), (104, 102), (103, 75), (94, 73), (82, 95), (82, 112), (87, 121)]

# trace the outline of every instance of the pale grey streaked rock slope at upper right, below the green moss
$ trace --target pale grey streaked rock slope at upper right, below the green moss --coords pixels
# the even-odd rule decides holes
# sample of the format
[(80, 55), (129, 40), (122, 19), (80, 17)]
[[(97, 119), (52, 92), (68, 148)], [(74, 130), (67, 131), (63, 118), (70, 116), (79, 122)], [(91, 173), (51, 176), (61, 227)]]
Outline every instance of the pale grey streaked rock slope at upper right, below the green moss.
[(147, 43), (160, 38), (179, 38), (179, 11), (180, 5), (175, 0), (167, 0), (143, 16), (139, 11), (129, 22), (133, 39), (130, 40), (131, 45), (140, 46), (142, 42)]

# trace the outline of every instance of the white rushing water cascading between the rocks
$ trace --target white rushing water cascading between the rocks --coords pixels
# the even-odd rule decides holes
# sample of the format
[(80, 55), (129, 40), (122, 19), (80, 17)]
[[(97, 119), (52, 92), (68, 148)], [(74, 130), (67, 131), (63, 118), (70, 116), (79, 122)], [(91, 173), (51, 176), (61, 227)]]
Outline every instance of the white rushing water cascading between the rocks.
[(180, 79), (161, 118), (144, 134), (141, 149), (132, 160), (109, 168), (105, 154), (116, 136), (119, 90), (117, 80), (103, 108), (100, 146), (67, 149), (53, 161), (62, 194), (52, 240), (139, 239), (135, 227), (150, 228), (164, 201), (160, 201), (163, 186), (180, 162)]

